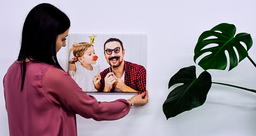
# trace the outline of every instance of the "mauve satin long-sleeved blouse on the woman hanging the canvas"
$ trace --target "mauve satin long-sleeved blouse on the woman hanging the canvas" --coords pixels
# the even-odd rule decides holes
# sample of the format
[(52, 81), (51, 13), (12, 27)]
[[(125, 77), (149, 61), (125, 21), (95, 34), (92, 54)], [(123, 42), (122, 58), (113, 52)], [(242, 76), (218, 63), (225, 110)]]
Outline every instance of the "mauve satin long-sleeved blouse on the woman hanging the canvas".
[(76, 136), (76, 114), (102, 121), (130, 111), (124, 99), (97, 101), (69, 74), (49, 64), (27, 62), (22, 91), (20, 77), (20, 63), (14, 62), (4, 76), (10, 136)]

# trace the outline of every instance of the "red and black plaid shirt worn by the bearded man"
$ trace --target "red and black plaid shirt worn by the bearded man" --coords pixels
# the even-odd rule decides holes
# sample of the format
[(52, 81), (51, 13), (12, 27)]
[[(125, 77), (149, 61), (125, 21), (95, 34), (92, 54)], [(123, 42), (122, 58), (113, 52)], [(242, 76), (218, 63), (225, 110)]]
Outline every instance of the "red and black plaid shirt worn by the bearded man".
[[(111, 71), (112, 68), (110, 67)], [(132, 89), (140, 92), (146, 91), (146, 69), (138, 64), (134, 64), (128, 61), (124, 61), (124, 84), (131, 87)], [(109, 73), (109, 68), (100, 72), (101, 88), (99, 92), (103, 92), (105, 87), (105, 77)], [(110, 92), (114, 92), (115, 87), (112, 87)]]

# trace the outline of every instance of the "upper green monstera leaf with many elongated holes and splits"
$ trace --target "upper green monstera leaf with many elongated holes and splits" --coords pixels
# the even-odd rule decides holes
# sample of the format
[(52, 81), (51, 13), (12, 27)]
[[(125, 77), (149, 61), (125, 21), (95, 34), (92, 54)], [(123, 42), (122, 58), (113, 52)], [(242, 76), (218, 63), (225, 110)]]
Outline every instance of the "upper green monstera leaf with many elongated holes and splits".
[[(220, 32), (216, 32), (220, 31)], [(238, 62), (242, 61), (245, 57), (248, 56), (247, 51), (252, 47), (252, 37), (247, 33), (239, 33), (235, 36), (236, 27), (232, 24), (221, 23), (213, 27), (209, 31), (203, 32), (198, 38), (198, 42), (195, 47), (194, 61), (206, 52), (211, 52), (211, 54), (203, 57), (198, 65), (204, 70), (207, 69), (220, 69), (225, 70), (227, 67), (227, 57), (225, 55), (225, 50), (228, 51), (230, 67), (229, 70), (235, 68), (238, 65)], [(205, 39), (210, 36), (216, 36), (214, 39)], [(204, 40), (205, 39), (205, 40)], [(240, 42), (244, 42), (247, 47), (247, 51)], [(210, 47), (203, 49), (209, 44), (218, 44), (218, 46)], [(236, 48), (239, 61), (236, 56), (234, 48)], [(202, 50), (203, 49), (203, 50)], [(229, 71), (228, 70), (228, 71)]]

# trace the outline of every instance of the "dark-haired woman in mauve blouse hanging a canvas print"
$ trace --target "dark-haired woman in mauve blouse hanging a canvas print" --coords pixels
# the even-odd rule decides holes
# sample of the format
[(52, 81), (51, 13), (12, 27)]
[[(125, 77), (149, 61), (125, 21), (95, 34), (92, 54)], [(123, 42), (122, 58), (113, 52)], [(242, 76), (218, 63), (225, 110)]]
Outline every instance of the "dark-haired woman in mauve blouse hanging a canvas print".
[(66, 46), (69, 27), (67, 15), (51, 4), (39, 4), (28, 13), (18, 60), (4, 76), (11, 136), (74, 136), (76, 114), (97, 121), (117, 120), (128, 114), (132, 103), (148, 103), (147, 91), (111, 102), (98, 102), (83, 92), (56, 58)]

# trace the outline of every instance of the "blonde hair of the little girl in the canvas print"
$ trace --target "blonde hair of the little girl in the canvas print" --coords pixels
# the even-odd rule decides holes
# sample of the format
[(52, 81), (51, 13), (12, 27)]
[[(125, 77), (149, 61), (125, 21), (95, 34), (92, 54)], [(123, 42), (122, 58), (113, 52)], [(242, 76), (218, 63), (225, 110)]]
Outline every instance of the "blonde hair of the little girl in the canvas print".
[[(73, 50), (73, 55), (76, 57), (77, 61), (79, 57), (82, 57), (84, 55), (84, 51), (86, 51), (89, 47), (93, 46), (90, 43), (87, 42), (81, 42), (79, 44), (84, 44), (84, 45), (79, 45), (77, 47), (75, 47), (75, 49)], [(69, 63), (74, 64), (76, 61), (73, 60), (69, 60)]]

